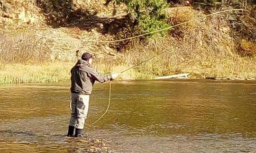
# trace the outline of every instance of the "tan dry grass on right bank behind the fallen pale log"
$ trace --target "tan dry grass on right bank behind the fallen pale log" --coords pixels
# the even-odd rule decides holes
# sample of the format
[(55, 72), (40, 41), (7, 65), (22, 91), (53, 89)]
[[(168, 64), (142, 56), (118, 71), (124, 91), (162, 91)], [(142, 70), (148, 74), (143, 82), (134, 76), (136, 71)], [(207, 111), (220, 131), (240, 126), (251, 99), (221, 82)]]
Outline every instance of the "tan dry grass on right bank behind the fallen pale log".
[[(171, 47), (169, 46), (169, 48)], [(209, 76), (229, 78), (256, 77), (256, 59), (254, 57), (242, 58), (236, 54), (232, 56), (228, 54), (224, 58), (222, 54), (218, 55), (217, 53), (213, 53), (214, 51), (210, 50), (210, 47), (208, 49), (209, 54), (196, 54), (187, 52), (189, 51), (188, 47), (183, 46), (178, 50), (170, 51), (161, 57), (142, 64), (133, 70), (132, 73), (135, 75), (131, 76), (137, 78), (152, 78), (153, 76), (191, 73), (191, 78), (205, 78)], [(147, 57), (154, 56), (156, 52), (163, 50), (164, 49), (161, 48), (148, 52), (149, 49), (141, 49), (140, 52), (134, 54), (132, 58), (135, 61), (142, 61)], [(191, 48), (191, 50), (193, 50), (193, 48)]]

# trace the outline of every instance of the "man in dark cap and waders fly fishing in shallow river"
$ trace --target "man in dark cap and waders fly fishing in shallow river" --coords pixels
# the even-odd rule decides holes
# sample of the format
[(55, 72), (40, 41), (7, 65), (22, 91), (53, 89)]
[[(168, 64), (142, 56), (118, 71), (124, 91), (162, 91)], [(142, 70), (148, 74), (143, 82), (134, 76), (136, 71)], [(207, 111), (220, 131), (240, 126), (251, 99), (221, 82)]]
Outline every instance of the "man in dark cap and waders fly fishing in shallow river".
[(81, 137), (84, 121), (89, 109), (89, 99), (95, 81), (104, 83), (116, 79), (119, 74), (109, 76), (99, 75), (91, 68), (92, 55), (82, 54), (75, 66), (71, 69), (71, 118), (67, 136)]

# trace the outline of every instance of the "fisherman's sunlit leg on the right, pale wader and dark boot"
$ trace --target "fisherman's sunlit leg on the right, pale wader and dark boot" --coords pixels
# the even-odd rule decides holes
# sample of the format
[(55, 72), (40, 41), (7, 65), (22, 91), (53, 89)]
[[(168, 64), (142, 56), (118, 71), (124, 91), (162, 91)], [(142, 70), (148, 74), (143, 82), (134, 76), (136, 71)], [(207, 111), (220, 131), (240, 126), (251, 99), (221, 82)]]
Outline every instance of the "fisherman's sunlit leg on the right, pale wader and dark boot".
[(82, 136), (84, 121), (87, 118), (87, 113), (89, 110), (89, 99), (90, 95), (82, 95), (80, 94), (77, 99), (77, 122), (75, 126), (75, 136), (80, 137)]

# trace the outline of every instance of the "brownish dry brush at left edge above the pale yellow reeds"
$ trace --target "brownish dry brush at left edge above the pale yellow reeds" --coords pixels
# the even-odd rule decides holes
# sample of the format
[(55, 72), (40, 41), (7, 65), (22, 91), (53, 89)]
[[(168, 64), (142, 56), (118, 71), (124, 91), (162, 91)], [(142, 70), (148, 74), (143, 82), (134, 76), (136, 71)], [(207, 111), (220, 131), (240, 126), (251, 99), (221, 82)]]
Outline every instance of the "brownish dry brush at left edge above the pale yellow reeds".
[(0, 62), (39, 63), (49, 59), (46, 43), (26, 31), (2, 34), (0, 43)]

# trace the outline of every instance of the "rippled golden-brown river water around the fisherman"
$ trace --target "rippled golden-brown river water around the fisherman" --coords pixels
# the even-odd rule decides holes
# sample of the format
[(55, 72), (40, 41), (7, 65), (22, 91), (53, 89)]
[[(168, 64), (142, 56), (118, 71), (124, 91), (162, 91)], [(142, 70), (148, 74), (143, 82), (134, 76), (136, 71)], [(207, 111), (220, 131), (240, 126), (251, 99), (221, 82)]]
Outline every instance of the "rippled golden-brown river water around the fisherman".
[[(68, 138), (69, 83), (0, 86), (0, 153), (83, 153)], [(137, 80), (97, 83), (85, 133), (109, 152), (256, 152), (256, 82)], [(99, 151), (101, 152), (101, 151)]]

